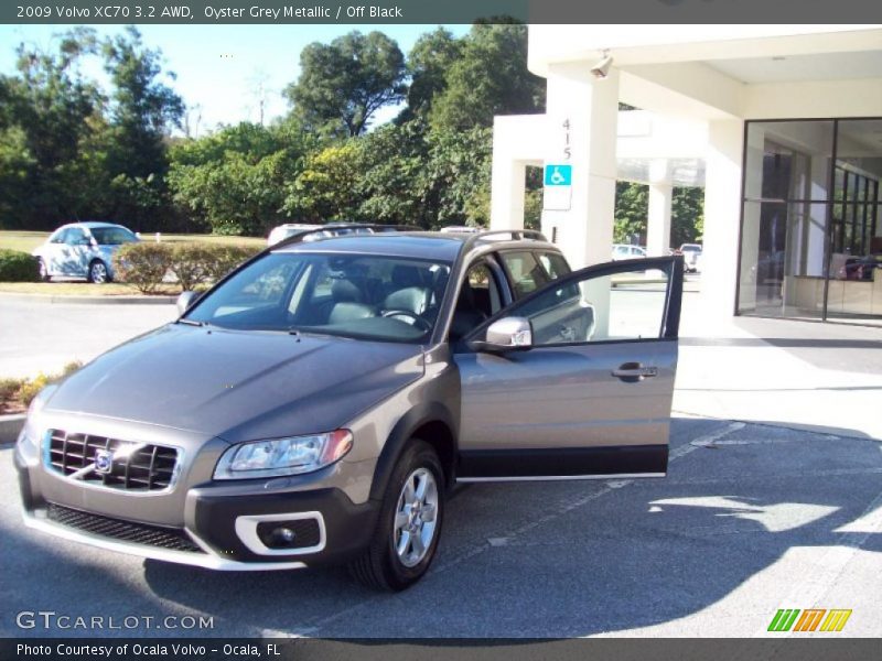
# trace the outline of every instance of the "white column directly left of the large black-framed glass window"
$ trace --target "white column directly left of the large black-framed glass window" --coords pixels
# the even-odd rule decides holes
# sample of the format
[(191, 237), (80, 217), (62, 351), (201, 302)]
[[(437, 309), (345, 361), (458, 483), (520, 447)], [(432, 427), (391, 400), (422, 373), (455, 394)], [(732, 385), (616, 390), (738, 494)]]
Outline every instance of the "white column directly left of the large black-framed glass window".
[(718, 319), (731, 317), (735, 307), (743, 148), (742, 120), (709, 122), (701, 305)]

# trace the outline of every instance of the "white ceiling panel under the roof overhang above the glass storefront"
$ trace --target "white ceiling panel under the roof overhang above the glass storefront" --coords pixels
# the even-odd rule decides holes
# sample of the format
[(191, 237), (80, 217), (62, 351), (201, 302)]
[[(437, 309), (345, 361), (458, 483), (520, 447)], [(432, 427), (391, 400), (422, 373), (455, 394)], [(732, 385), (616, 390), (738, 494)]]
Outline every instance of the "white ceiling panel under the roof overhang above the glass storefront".
[(742, 83), (797, 83), (882, 76), (882, 50), (790, 55), (784, 58), (711, 59), (704, 64)]

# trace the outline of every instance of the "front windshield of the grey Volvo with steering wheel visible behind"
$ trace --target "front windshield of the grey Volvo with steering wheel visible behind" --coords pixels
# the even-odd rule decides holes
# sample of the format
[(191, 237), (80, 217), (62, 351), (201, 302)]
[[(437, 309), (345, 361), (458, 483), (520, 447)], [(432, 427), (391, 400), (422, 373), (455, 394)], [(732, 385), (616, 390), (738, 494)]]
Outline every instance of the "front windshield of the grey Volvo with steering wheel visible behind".
[(404, 257), (276, 252), (186, 315), (240, 330), (420, 343), (434, 328), (450, 264)]

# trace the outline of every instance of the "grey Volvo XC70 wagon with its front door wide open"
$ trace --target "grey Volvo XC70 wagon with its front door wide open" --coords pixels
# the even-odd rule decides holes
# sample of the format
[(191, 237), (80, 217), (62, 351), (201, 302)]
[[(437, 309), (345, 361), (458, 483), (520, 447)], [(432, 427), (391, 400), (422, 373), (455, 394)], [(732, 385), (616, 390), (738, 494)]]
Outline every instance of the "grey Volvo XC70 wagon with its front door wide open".
[(531, 231), (292, 239), (34, 401), (24, 520), (215, 570), (428, 570), (463, 481), (663, 476), (681, 258)]

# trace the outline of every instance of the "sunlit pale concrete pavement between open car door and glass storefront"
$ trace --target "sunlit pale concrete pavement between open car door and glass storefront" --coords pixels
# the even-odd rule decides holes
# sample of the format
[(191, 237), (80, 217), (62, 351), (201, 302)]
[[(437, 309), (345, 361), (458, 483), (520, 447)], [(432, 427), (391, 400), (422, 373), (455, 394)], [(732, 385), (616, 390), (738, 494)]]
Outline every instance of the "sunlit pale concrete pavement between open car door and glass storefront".
[(882, 328), (712, 322), (687, 293), (674, 414), (882, 438)]

